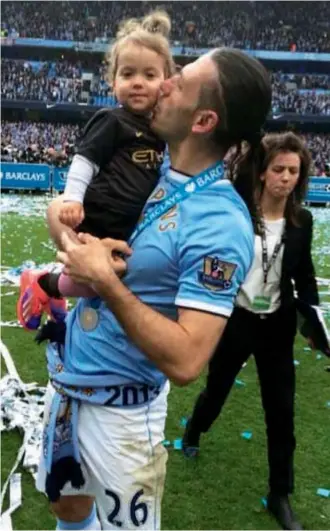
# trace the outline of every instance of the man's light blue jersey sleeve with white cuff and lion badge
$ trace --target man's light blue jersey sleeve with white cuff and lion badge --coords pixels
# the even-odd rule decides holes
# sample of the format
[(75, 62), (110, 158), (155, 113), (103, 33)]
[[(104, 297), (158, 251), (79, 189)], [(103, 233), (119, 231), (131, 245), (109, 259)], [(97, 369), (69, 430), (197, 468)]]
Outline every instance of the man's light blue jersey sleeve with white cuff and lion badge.
[(178, 248), (176, 306), (229, 317), (252, 265), (253, 242), (250, 220), (240, 212), (226, 211), (225, 205), (195, 222), (190, 219)]

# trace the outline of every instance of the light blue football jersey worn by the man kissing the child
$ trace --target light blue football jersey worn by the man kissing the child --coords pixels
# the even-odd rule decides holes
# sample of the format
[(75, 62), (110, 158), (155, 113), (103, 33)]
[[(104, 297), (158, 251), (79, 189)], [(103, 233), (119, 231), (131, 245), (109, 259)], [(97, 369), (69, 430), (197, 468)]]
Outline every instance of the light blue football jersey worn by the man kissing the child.
[[(169, 169), (145, 212), (188, 181)], [(178, 307), (229, 317), (252, 264), (253, 227), (233, 185), (220, 180), (153, 221), (132, 249), (124, 282), (142, 302), (174, 320)], [(90, 306), (97, 308), (98, 322), (86, 331), (82, 316)], [(74, 373), (109, 375), (109, 385), (162, 385), (166, 380), (98, 298), (80, 299), (70, 312), (65, 360)]]

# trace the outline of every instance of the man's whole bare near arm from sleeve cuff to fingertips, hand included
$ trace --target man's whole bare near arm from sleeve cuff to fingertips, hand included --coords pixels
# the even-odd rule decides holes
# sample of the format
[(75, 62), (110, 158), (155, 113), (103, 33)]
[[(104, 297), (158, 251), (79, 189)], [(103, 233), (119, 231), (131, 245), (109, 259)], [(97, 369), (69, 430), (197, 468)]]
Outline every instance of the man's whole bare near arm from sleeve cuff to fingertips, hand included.
[[(217, 312), (180, 308), (172, 321), (142, 303), (116, 275), (119, 262), (113, 253), (131, 254), (125, 242), (112, 240), (112, 251), (98, 238), (85, 235), (77, 245), (64, 234), (57, 258), (76, 282), (92, 284), (118, 319), (128, 338), (178, 385), (196, 379), (214, 351), (227, 319)], [(82, 237), (80, 237), (81, 239)], [(91, 240), (90, 240), (91, 239)], [(119, 245), (120, 244), (120, 245)], [(124, 262), (125, 270), (126, 264)]]

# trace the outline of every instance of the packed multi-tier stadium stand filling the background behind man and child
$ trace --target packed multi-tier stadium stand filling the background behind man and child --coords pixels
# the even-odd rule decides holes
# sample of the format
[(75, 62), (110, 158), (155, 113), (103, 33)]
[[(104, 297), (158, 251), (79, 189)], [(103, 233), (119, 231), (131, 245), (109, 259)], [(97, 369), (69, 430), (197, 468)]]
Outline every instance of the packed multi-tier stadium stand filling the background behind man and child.
[(52, 2), (5, 1), (1, 159), (68, 164), (89, 116), (116, 105), (104, 51), (118, 22), (156, 6), (172, 18), (178, 65), (202, 53), (201, 47), (259, 53), (273, 85), (266, 129), (303, 134), (314, 175), (329, 174), (329, 2), (268, 2), (267, 9), (263, 2), (236, 1), (57, 2), (54, 10)]

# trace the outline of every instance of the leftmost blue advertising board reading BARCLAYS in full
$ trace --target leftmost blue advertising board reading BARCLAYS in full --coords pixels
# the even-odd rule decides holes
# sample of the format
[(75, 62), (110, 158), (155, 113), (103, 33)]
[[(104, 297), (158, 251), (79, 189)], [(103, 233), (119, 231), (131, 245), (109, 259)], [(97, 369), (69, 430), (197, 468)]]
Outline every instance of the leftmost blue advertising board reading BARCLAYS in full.
[(50, 190), (50, 168), (46, 164), (2, 163), (1, 188), (11, 190)]

